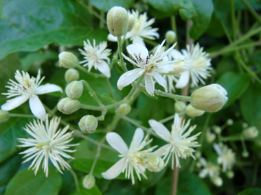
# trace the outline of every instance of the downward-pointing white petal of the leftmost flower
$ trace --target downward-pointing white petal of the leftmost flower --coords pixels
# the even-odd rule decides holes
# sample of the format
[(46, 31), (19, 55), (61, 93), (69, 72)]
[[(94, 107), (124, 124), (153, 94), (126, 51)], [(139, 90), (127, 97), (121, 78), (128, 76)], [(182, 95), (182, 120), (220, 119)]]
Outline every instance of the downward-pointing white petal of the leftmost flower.
[(45, 107), (43, 107), (43, 104), (41, 103), (41, 100), (38, 98), (37, 95), (33, 95), (30, 97), (29, 105), (32, 114), (34, 114), (34, 116), (40, 118), (41, 120), (45, 120), (46, 117)]

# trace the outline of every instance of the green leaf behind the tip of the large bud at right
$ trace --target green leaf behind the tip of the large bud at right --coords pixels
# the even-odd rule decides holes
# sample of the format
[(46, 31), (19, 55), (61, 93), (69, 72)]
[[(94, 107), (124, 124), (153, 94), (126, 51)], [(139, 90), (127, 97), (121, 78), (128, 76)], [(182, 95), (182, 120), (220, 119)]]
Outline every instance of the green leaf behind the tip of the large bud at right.
[(247, 90), (250, 77), (247, 73), (227, 72), (218, 78), (216, 83), (227, 90), (228, 101), (224, 107), (228, 107)]

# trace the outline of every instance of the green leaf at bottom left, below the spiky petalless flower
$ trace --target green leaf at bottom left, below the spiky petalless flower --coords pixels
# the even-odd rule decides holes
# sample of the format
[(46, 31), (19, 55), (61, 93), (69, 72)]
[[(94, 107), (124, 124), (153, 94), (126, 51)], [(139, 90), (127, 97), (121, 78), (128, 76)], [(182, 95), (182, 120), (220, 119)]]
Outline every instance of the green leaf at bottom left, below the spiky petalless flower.
[(48, 177), (43, 170), (38, 170), (36, 176), (32, 170), (22, 170), (8, 183), (5, 195), (56, 195), (62, 186), (62, 177), (58, 170), (49, 166)]

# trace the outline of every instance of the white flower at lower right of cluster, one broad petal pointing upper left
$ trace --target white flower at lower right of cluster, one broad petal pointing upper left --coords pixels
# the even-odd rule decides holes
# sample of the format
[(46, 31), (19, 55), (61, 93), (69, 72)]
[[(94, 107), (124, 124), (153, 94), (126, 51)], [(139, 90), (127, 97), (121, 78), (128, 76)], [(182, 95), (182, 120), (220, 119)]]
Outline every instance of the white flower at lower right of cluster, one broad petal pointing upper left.
[[(157, 122), (156, 120), (149, 120), (150, 127), (168, 144), (162, 146), (157, 151), (155, 151), (155, 154), (159, 157), (163, 156), (163, 159), (166, 159), (166, 164), (168, 164), (168, 161), (170, 160), (170, 157), (172, 157), (172, 169), (174, 168), (174, 158), (176, 160), (177, 167), (181, 167), (179, 164), (179, 157), (185, 159), (188, 156), (191, 156), (195, 159), (194, 155), (192, 154), (194, 152), (194, 149), (192, 147), (198, 147), (198, 142), (193, 142), (196, 140), (197, 136), (201, 133), (196, 133), (196, 135), (190, 136), (190, 133), (196, 128), (196, 125), (193, 127), (190, 127), (188, 129), (188, 126), (190, 125), (190, 120), (185, 125), (185, 120), (182, 121), (182, 118), (179, 117), (179, 114), (175, 114), (174, 117), (174, 124), (172, 125), (171, 133), (162, 125), (160, 122)], [(188, 129), (187, 132), (185, 130)], [(185, 132), (185, 133), (184, 133)], [(184, 133), (184, 134), (183, 134)]]

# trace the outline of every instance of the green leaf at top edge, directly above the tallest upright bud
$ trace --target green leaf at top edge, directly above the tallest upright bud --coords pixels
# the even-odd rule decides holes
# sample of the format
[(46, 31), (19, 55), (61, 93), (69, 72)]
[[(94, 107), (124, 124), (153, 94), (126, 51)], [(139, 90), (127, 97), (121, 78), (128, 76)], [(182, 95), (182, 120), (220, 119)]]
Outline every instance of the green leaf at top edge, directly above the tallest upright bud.
[(91, 4), (98, 10), (108, 12), (113, 6), (121, 6), (127, 10), (131, 8), (135, 0), (90, 0)]

